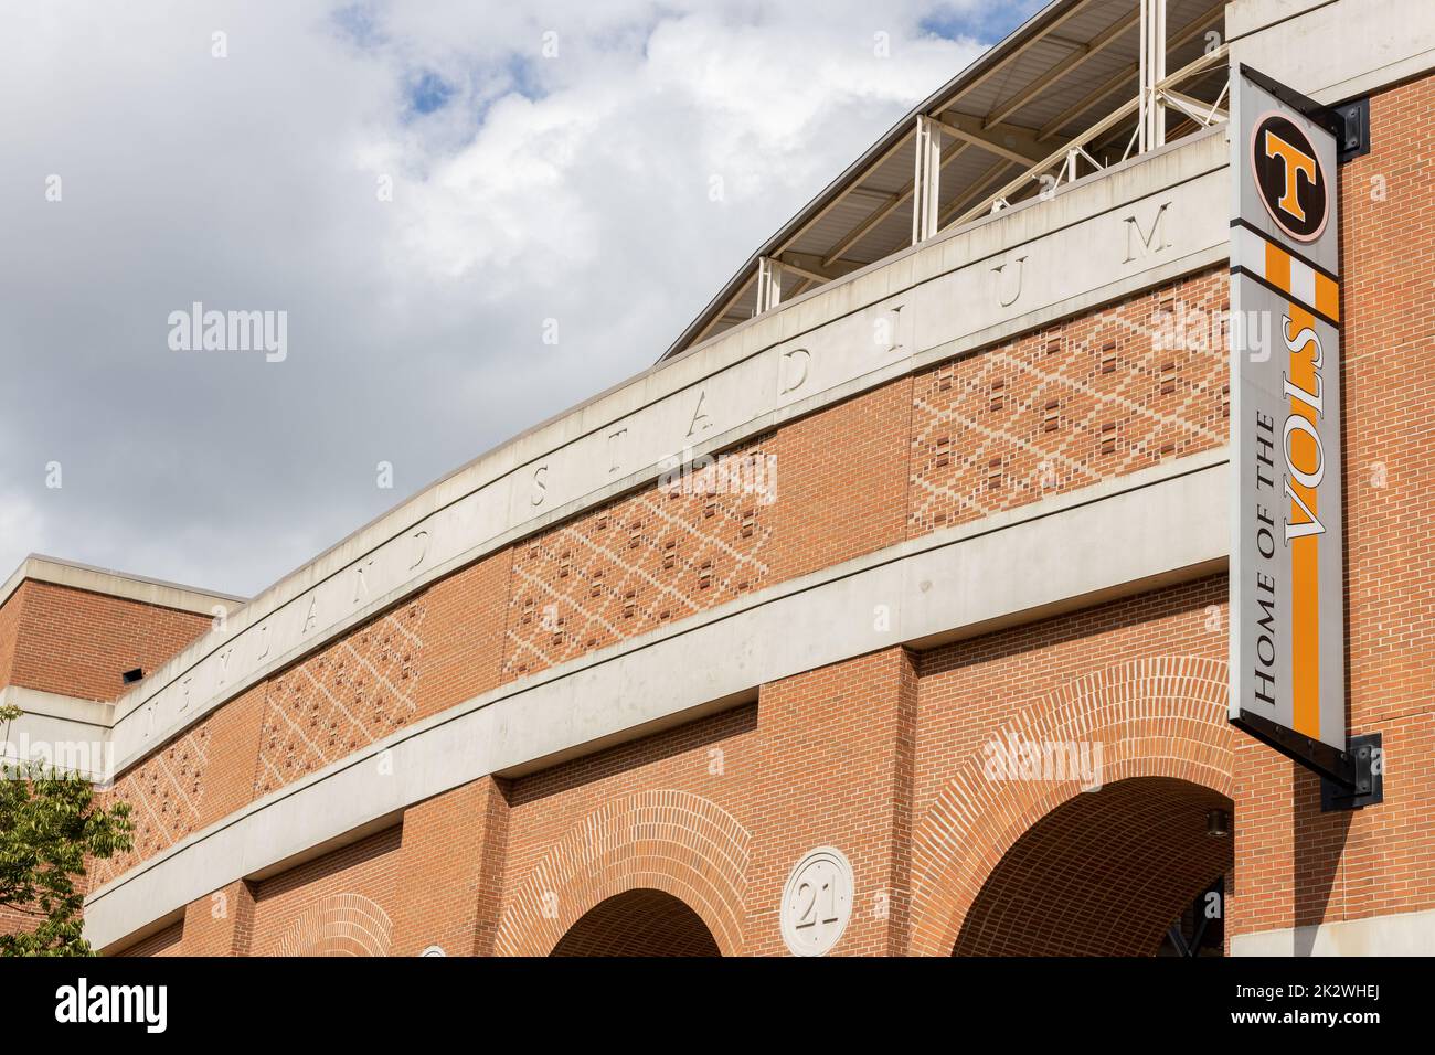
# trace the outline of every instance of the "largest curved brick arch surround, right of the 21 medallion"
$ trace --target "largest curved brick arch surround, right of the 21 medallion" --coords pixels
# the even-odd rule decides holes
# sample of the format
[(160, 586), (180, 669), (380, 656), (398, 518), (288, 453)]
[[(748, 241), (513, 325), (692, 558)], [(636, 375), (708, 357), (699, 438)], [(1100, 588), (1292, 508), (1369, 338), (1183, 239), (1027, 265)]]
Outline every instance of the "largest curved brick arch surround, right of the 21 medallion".
[[(1099, 742), (1102, 785), (1168, 777), (1233, 798), (1227, 665), (1194, 656), (1116, 663), (1053, 690), (992, 731), (1023, 742)], [(987, 877), (1075, 795), (1078, 779), (994, 781), (974, 752), (923, 817), (913, 845), (911, 952), (947, 956)]]

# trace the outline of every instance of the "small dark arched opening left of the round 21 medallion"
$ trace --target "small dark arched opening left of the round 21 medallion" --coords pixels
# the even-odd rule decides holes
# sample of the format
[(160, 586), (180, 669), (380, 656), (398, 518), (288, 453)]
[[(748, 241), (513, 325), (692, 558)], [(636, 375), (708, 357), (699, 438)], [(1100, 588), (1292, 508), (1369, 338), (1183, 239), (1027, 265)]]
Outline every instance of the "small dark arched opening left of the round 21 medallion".
[(551, 956), (720, 956), (702, 917), (662, 890), (600, 901), (568, 927)]

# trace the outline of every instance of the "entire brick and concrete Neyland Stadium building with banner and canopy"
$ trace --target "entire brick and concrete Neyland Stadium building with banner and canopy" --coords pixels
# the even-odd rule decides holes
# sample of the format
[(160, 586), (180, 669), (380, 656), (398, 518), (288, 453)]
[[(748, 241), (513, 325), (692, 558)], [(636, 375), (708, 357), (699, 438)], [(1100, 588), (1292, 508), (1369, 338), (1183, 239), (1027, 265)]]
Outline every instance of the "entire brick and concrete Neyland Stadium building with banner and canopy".
[(32, 557), (109, 955), (1435, 953), (1435, 9), (1055, 0), (244, 600)]

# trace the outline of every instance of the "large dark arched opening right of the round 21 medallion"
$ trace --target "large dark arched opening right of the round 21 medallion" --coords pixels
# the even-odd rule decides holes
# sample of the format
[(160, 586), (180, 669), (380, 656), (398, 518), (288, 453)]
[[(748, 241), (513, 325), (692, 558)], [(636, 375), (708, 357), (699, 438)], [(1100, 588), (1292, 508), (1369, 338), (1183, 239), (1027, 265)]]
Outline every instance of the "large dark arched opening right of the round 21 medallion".
[(1233, 817), (1225, 795), (1170, 777), (1078, 794), (1012, 844), (951, 952), (1220, 955)]

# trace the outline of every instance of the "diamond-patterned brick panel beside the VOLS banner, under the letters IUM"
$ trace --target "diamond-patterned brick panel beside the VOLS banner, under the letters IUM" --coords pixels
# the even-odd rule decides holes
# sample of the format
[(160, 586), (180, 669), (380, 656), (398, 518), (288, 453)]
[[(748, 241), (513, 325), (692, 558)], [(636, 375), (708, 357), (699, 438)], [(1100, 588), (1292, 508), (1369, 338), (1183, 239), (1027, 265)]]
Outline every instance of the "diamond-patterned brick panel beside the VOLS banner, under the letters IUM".
[(1227, 284), (1207, 271), (920, 375), (910, 535), (1223, 445)]

